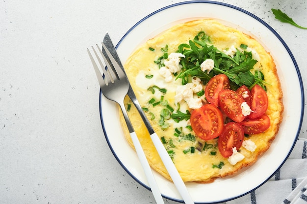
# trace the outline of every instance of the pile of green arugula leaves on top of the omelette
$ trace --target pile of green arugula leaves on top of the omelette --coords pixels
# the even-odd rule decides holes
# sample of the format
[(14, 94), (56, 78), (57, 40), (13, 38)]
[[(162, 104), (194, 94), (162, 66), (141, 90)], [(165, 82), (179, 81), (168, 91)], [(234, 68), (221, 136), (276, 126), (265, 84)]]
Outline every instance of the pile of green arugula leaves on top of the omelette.
[[(200, 35), (203, 38), (200, 39)], [(176, 77), (176, 79), (182, 79), (182, 85), (188, 83), (191, 76), (197, 76), (204, 83), (207, 83), (214, 75), (223, 73), (230, 79), (230, 86), (234, 90), (242, 85), (252, 87), (255, 84), (259, 84), (264, 87), (264, 79), (258, 77), (258, 73), (255, 76), (251, 72), (251, 69), (257, 63), (253, 59), (252, 52), (245, 50), (241, 52), (237, 49), (235, 55), (231, 58), (213, 45), (210, 45), (209, 37), (204, 36), (205, 33), (200, 32), (193, 41), (189, 41), (189, 44), (181, 44), (178, 47), (178, 52), (185, 56), (180, 61), (182, 71)], [(246, 48), (246, 45), (243, 47)], [(200, 67), (206, 59), (214, 61), (214, 68), (208, 74), (202, 71)]]

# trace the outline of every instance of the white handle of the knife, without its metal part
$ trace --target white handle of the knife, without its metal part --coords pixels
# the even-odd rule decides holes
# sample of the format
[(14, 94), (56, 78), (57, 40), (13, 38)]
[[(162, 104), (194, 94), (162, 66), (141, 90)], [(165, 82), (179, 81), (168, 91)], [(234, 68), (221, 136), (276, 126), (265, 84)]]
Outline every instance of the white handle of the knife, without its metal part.
[(162, 159), (162, 162), (168, 171), (169, 175), (171, 176), (177, 190), (179, 191), (179, 194), (181, 195), (183, 201), (185, 204), (194, 204), (194, 201), (192, 200), (189, 192), (186, 189), (186, 186), (184, 182), (182, 181), (178, 170), (176, 169), (176, 166), (171, 159), (171, 157), (168, 155), (164, 145), (162, 144), (160, 138), (157, 136), (156, 133), (153, 133), (151, 135), (151, 138), (153, 140), (153, 144), (156, 148), (156, 150), (159, 153), (160, 158)]

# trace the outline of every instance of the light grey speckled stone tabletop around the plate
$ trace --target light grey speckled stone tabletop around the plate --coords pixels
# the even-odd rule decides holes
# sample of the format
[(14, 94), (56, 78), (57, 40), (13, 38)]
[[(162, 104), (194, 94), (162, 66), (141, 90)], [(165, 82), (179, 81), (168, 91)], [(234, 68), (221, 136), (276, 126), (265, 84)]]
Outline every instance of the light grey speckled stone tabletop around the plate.
[[(281, 9), (307, 26), (306, 0), (218, 1), (272, 26), (307, 80), (307, 30), (281, 23), (271, 12)], [(0, 1), (0, 204), (155, 203), (106, 143), (86, 48), (106, 32), (117, 44), (139, 20), (177, 2)], [(301, 137), (307, 137), (306, 124), (305, 117)]]

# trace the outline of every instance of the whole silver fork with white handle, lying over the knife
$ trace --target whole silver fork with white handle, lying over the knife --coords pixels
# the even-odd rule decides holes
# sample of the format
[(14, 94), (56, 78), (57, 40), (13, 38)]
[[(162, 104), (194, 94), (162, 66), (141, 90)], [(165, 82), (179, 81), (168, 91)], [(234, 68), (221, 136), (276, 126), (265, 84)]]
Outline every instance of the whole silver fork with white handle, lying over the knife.
[[(102, 46), (106, 50), (106, 52), (108, 52), (107, 48), (105, 47), (105, 45), (103, 45), (103, 43), (102, 43)], [(95, 62), (95, 60), (94, 60), (94, 58), (93, 58), (93, 56), (92, 56), (92, 54), (91, 54), (91, 52), (88, 48), (87, 48), (87, 52), (89, 54), (89, 57), (91, 59), (93, 67), (95, 69), (95, 73), (97, 75), (97, 79), (99, 81), (99, 85), (100, 85), (100, 89), (102, 91), (102, 94), (107, 99), (114, 101), (114, 102), (119, 104), (119, 106), (122, 110), (122, 113), (124, 115), (124, 118), (125, 118), (125, 121), (126, 121), (126, 124), (127, 124), (127, 127), (128, 127), (128, 131), (130, 133), (132, 142), (134, 144), (137, 156), (138, 156), (138, 158), (141, 162), (144, 173), (145, 173), (146, 178), (149, 182), (150, 188), (153, 192), (153, 197), (154, 197), (157, 204), (164, 204), (164, 201), (162, 199), (162, 195), (161, 195), (159, 188), (158, 188), (158, 185), (157, 185), (157, 183), (154, 179), (151, 167), (148, 163), (148, 160), (146, 159), (145, 153), (142, 149), (140, 141), (138, 140), (138, 137), (136, 136), (134, 128), (132, 127), (132, 124), (131, 124), (130, 119), (128, 117), (127, 110), (126, 110), (125, 105), (124, 105), (124, 98), (127, 95), (128, 89), (129, 89), (129, 82), (128, 82), (127, 76), (121, 68), (118, 68), (116, 66), (113, 67), (114, 69), (111, 68), (112, 66), (105, 59), (105, 57), (102, 54), (102, 50), (99, 48), (98, 45), (97, 45), (97, 48), (98, 48), (100, 54), (102, 55), (104, 62), (106, 63), (106, 65), (108, 67), (107, 69), (104, 68), (104, 66), (102, 64), (102, 60), (100, 59), (99, 55), (97, 54), (97, 51), (95, 50), (94, 46), (92, 46), (92, 49), (95, 53), (97, 61), (99, 62), (100, 67), (102, 68), (103, 75), (102, 75), (100, 69), (98, 68), (98, 66), (97, 66), (97, 64), (96, 64), (96, 62)]]

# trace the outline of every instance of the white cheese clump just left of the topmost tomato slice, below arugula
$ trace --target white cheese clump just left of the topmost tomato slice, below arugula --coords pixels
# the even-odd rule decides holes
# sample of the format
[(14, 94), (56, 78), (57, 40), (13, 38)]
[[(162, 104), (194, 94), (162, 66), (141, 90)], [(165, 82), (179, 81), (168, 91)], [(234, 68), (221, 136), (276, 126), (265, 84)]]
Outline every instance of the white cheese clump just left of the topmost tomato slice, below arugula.
[(201, 108), (203, 106), (202, 98), (194, 97), (194, 88), (195, 85), (193, 83), (178, 86), (175, 95), (175, 103), (184, 100), (190, 109)]

